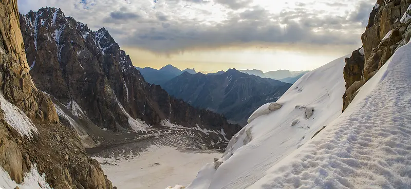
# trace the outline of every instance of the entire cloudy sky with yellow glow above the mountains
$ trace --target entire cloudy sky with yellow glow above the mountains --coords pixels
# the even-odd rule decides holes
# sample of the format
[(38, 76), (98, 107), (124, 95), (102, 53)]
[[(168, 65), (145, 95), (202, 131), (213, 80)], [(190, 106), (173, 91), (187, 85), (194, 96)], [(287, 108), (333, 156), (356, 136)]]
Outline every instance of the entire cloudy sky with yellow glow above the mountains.
[(139, 67), (311, 70), (361, 47), (376, 0), (18, 0), (105, 27)]

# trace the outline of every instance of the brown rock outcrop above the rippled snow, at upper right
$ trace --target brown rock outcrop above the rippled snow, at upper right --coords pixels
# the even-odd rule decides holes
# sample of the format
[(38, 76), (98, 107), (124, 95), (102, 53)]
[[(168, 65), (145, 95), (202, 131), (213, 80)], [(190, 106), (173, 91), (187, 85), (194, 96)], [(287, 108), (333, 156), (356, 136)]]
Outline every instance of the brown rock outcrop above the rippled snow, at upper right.
[(364, 85), (411, 37), (410, 0), (378, 0), (361, 36), (363, 48), (346, 59), (343, 111)]

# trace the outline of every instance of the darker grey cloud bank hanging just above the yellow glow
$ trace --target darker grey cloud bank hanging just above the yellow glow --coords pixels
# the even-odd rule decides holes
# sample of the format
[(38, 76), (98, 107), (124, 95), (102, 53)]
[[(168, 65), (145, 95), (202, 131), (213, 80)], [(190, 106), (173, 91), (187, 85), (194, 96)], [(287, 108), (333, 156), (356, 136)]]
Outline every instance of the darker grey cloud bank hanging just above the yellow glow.
[[(298, 18), (298, 21), (295, 18)], [(168, 27), (138, 31), (124, 43), (155, 52), (247, 44), (356, 45), (357, 34), (331, 31), (344, 29), (342, 25), (350, 23), (350, 20), (340, 16), (315, 17), (314, 13), (305, 9), (284, 11), (278, 16), (270, 14), (264, 8), (253, 7), (239, 14), (231, 14), (229, 20), (213, 27), (192, 27), (193, 23), (190, 22), (176, 22)], [(283, 24), (285, 27), (281, 26)], [(329, 27), (329, 30), (313, 31), (321, 27)]]

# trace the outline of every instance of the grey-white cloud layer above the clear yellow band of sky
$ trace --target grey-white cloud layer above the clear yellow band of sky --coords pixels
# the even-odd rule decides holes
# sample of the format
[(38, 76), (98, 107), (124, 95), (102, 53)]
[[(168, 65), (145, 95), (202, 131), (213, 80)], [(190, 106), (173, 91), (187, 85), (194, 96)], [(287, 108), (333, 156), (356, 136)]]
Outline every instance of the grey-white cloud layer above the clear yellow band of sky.
[(232, 45), (359, 45), (370, 0), (21, 0), (105, 27), (121, 45), (155, 52)]

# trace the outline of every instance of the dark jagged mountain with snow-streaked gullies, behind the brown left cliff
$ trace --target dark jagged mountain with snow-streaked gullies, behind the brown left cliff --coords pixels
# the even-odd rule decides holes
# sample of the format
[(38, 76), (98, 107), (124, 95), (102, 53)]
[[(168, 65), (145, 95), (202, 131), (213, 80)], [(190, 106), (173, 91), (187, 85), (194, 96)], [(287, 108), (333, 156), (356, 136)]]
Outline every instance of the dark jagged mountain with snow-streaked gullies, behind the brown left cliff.
[(227, 138), (239, 130), (219, 114), (195, 109), (146, 83), (105, 28), (91, 31), (47, 7), (21, 15), (20, 23), (34, 83), (55, 99), (67, 125), (96, 143), (107, 139), (101, 129), (127, 134), (172, 123), (223, 129)]

